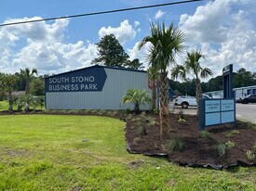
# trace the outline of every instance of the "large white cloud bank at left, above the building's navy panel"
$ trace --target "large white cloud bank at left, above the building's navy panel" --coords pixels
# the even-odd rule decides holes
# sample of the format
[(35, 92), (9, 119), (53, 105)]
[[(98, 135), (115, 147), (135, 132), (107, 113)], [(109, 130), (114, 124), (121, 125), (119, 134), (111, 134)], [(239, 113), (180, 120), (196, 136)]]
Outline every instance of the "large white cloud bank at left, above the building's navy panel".
[[(9, 19), (6, 23), (22, 20), (30, 19)], [(21, 68), (34, 67), (39, 74), (45, 74), (90, 65), (90, 61), (97, 57), (95, 45), (90, 43), (84, 45), (82, 41), (64, 44), (62, 39), (67, 26), (67, 19), (59, 19), (52, 24), (42, 21), (2, 28), (0, 71), (13, 73)], [(19, 42), (21, 39), (24, 41)], [(22, 45), (20, 50), (14, 51), (20, 43), (25, 45)]]

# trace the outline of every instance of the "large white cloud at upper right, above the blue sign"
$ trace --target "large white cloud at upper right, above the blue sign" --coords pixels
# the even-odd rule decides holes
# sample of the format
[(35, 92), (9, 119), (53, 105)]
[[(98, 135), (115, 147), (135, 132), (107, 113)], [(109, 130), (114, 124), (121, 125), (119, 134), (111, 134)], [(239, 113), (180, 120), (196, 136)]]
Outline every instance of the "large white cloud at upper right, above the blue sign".
[(215, 75), (222, 74), (228, 64), (234, 64), (235, 71), (256, 70), (256, 26), (249, 19), (252, 7), (244, 0), (216, 0), (198, 6), (192, 16), (181, 16), (187, 44), (202, 49), (206, 56), (202, 64)]

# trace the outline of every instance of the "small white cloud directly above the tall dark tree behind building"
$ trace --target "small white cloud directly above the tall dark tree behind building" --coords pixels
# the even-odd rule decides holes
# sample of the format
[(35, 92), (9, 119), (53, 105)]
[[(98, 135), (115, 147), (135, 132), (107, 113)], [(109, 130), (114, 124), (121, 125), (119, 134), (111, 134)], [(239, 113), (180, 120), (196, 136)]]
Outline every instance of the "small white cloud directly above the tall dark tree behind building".
[(125, 19), (117, 28), (111, 26), (107, 28), (102, 27), (99, 31), (99, 36), (103, 37), (108, 34), (115, 34), (115, 37), (120, 42), (120, 44), (124, 45), (128, 40), (131, 40), (136, 36), (136, 32), (137, 31), (132, 28), (132, 25), (128, 23), (128, 20)]

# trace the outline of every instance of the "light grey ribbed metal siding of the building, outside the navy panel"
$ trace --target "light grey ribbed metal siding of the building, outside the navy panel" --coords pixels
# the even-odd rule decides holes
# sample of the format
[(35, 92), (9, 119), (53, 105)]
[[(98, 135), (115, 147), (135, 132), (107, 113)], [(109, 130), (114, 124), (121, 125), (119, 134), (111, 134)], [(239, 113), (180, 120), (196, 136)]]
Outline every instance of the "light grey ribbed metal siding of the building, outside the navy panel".
[[(85, 69), (87, 70), (87, 69)], [(48, 109), (125, 109), (120, 104), (130, 88), (148, 89), (147, 73), (104, 68), (107, 79), (101, 92), (47, 92)], [(146, 107), (148, 108), (148, 107)]]

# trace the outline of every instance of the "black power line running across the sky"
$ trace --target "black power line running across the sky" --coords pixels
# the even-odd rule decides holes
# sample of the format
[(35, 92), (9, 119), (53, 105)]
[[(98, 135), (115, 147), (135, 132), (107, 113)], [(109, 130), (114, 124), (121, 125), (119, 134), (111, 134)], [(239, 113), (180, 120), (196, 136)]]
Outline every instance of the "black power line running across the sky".
[(179, 5), (179, 4), (193, 3), (196, 1), (203, 1), (203, 0), (177, 1), (177, 2), (171, 2), (171, 3), (166, 3), (166, 4), (157, 4), (157, 5), (152, 5), (152, 6), (137, 6), (137, 7), (106, 10), (106, 11), (93, 12), (93, 13), (85, 13), (85, 14), (79, 14), (79, 15), (70, 15), (70, 16), (61, 16), (61, 17), (47, 18), (47, 19), (33, 19), (33, 20), (25, 20), (25, 21), (20, 21), (20, 22), (2, 23), (2, 24), (0, 24), (0, 27), (9, 26), (9, 25), (17, 25), (17, 24), (25, 24), (25, 23), (31, 23), (31, 22), (47, 21), (47, 20), (53, 20), (53, 19), (55, 20), (55, 19), (88, 17), (88, 16), (93, 16), (93, 15), (102, 15), (102, 14), (116, 13), (116, 12), (129, 11), (129, 10), (152, 8), (152, 7), (158, 7), (158, 6), (173, 6), (173, 5)]

